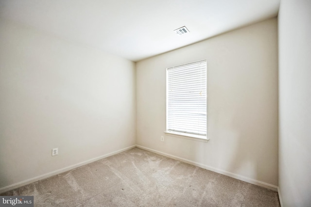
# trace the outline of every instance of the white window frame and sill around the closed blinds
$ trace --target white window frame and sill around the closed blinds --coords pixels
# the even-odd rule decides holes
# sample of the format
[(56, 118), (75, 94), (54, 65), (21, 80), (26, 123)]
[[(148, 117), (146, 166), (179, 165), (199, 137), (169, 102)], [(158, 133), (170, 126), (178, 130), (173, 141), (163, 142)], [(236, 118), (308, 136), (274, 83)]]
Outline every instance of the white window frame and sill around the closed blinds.
[[(168, 77), (168, 71), (169, 70), (173, 70), (174, 68), (180, 68), (181, 66), (186, 66), (186, 65), (190, 65), (190, 64), (196, 64), (196, 63), (205, 63), (206, 64), (206, 134), (205, 135), (201, 135), (201, 134), (195, 134), (195, 133), (189, 133), (189, 132), (181, 132), (181, 131), (174, 131), (174, 130), (170, 130), (169, 126), (168, 126), (168, 119), (169, 119), (169, 77)], [(173, 66), (173, 67), (168, 67), (166, 68), (166, 129), (165, 129), (165, 133), (169, 136), (174, 136), (174, 137), (179, 137), (179, 138), (185, 138), (185, 139), (190, 139), (190, 140), (196, 140), (196, 141), (201, 141), (201, 142), (205, 142), (208, 141), (209, 139), (207, 138), (207, 60), (200, 60), (200, 61), (195, 61), (195, 62), (191, 62), (191, 63), (187, 63), (187, 64), (181, 64), (181, 65), (177, 65), (177, 66)]]

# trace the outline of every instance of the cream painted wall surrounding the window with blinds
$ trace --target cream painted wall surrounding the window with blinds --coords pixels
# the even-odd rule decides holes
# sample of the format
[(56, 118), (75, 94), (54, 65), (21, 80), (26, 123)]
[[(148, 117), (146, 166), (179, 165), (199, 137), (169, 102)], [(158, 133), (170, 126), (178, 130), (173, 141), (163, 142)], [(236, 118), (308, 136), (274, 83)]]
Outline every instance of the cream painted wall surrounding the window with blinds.
[[(166, 68), (204, 59), (209, 141), (164, 134)], [(137, 62), (137, 144), (276, 188), (277, 64), (276, 18)]]

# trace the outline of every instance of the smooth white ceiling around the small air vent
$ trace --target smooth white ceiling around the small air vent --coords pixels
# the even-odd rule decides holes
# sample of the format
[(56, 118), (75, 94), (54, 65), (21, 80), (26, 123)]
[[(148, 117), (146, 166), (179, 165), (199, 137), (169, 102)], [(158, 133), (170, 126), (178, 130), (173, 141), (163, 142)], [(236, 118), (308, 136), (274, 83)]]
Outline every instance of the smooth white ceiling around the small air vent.
[(279, 1), (0, 0), (0, 17), (138, 61), (275, 17)]

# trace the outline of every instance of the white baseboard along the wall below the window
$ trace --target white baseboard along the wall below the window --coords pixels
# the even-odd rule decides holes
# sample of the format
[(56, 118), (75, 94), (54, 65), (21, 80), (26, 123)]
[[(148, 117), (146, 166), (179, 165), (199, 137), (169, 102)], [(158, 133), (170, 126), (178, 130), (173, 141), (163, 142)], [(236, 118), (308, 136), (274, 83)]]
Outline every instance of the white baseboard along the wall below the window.
[(267, 188), (267, 189), (270, 189), (270, 190), (273, 190), (273, 191), (277, 191), (277, 186), (274, 186), (274, 185), (271, 185), (271, 184), (268, 184), (268, 183), (265, 183), (265, 182), (261, 182), (259, 180), (255, 180), (255, 179), (252, 179), (252, 178), (249, 178), (249, 177), (245, 177), (245, 176), (242, 176), (242, 175), (237, 175), (237, 174), (234, 174), (234, 173), (230, 173), (230, 172), (227, 172), (225, 170), (221, 170), (221, 169), (217, 169), (217, 168), (214, 168), (214, 167), (211, 167), (211, 166), (207, 166), (205, 164), (194, 162), (194, 161), (191, 161), (189, 159), (180, 158), (180, 157), (177, 157), (177, 156), (174, 156), (174, 155), (170, 155), (170, 154), (167, 154), (167, 153), (164, 153), (164, 152), (160, 152), (160, 151), (157, 151), (157, 150), (154, 150), (154, 149), (150, 149), (148, 147), (144, 147), (144, 146), (141, 146), (141, 145), (136, 145), (136, 147), (144, 149), (144, 150), (147, 150), (147, 151), (150, 151), (150, 152), (153, 152), (155, 154), (159, 154), (159, 155), (162, 155), (162, 156), (165, 156), (165, 157), (169, 157), (169, 158), (176, 159), (176, 160), (179, 160), (179, 161), (182, 161), (182, 162), (186, 162), (188, 164), (191, 164), (191, 165), (194, 165), (194, 166), (197, 166), (197, 167), (201, 167), (201, 168), (204, 168), (206, 170), (213, 171), (215, 173), (219, 173), (219, 174), (222, 174), (222, 175), (233, 177), (233, 178), (236, 178), (238, 180), (242, 180), (242, 181), (245, 181), (245, 182), (257, 185), (257, 186), (261, 186), (261, 187), (264, 187), (264, 188)]

